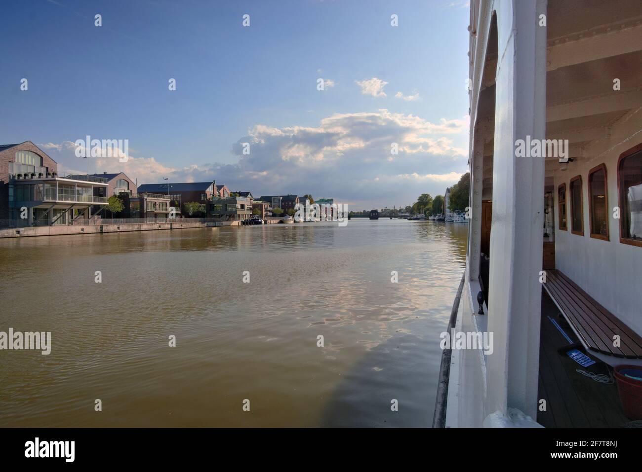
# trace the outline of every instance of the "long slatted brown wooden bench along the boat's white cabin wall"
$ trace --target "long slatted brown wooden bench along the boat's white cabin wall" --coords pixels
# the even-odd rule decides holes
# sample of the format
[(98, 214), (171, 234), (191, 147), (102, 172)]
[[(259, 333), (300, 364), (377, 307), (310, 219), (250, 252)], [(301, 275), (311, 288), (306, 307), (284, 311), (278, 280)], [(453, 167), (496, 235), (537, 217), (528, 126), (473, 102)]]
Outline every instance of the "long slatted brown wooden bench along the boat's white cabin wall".
[[(544, 289), (589, 353), (611, 366), (642, 365), (642, 337), (602, 307), (566, 275), (546, 271)], [(620, 346), (614, 346), (614, 336)]]

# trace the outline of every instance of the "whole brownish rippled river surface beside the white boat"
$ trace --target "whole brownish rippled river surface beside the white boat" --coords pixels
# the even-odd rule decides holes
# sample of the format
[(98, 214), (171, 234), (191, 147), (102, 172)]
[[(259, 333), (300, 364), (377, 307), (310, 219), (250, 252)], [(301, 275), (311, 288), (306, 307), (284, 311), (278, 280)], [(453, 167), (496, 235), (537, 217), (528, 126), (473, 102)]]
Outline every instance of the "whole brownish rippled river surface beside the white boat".
[(52, 344), (0, 351), (0, 426), (429, 426), (466, 237), (381, 219), (0, 240), (0, 331)]

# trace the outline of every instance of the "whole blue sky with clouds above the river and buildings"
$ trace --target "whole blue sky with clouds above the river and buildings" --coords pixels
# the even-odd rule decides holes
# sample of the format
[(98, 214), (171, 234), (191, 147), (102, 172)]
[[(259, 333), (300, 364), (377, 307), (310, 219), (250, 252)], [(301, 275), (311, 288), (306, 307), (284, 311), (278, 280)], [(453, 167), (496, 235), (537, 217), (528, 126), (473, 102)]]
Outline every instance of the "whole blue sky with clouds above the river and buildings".
[(31, 140), (63, 173), (86, 171), (85, 135), (129, 140), (128, 162), (92, 158), (92, 173), (355, 209), (443, 194), (466, 171), (465, 1), (30, 0), (3, 18), (0, 144)]

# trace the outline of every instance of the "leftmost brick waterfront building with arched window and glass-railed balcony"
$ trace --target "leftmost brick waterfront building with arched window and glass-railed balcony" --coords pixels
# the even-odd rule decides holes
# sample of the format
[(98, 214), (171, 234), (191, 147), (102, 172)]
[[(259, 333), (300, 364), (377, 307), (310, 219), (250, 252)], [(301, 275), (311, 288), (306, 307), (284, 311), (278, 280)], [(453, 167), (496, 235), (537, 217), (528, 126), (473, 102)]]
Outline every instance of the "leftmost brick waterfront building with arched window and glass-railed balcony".
[(90, 219), (92, 206), (107, 205), (107, 198), (96, 196), (99, 189), (107, 187), (107, 180), (101, 177), (58, 176), (55, 160), (31, 141), (0, 145), (0, 220), (5, 226), (72, 224), (74, 219)]

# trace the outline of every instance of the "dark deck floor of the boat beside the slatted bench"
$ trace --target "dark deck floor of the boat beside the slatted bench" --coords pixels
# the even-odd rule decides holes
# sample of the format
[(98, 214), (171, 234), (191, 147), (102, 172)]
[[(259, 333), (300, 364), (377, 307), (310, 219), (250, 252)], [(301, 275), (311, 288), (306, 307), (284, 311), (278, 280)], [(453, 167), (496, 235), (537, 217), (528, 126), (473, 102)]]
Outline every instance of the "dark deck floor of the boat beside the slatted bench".
[(555, 303), (542, 290), (538, 398), (546, 400), (546, 410), (538, 410), (537, 423), (546, 428), (618, 428), (629, 423), (616, 384), (602, 384), (576, 371), (609, 375), (607, 366), (598, 361), (582, 367), (568, 355), (558, 353), (559, 348), (569, 343), (548, 316), (562, 326), (573, 342), (578, 341)]

